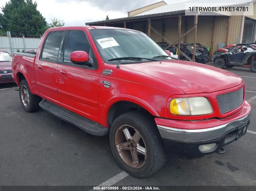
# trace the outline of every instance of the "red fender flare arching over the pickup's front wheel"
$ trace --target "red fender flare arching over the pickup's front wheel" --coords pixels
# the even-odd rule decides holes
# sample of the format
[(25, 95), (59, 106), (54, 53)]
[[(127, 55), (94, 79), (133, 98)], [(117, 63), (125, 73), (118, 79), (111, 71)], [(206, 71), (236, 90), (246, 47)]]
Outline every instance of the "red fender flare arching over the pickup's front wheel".
[(145, 110), (147, 110), (151, 115), (159, 117), (159, 114), (155, 111), (153, 107), (151, 107), (147, 102), (144, 100), (139, 99), (138, 97), (130, 96), (130, 95), (116, 95), (114, 97), (111, 97), (107, 103), (105, 103), (105, 107), (102, 112), (102, 119), (101, 124), (105, 127), (108, 126), (108, 112), (112, 105), (119, 101), (129, 101), (132, 103), (135, 103), (141, 107), (143, 107)]

